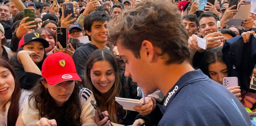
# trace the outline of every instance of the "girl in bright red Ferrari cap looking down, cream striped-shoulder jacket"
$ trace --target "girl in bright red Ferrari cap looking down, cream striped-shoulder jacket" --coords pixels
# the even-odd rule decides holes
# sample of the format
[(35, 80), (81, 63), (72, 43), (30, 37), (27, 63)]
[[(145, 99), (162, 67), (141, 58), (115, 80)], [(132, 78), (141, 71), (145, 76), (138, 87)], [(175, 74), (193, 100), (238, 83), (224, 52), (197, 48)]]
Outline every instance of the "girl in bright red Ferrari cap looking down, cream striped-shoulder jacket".
[(18, 117), (17, 126), (97, 126), (93, 93), (80, 88), (75, 63), (68, 54), (56, 52), (42, 65), (42, 78)]

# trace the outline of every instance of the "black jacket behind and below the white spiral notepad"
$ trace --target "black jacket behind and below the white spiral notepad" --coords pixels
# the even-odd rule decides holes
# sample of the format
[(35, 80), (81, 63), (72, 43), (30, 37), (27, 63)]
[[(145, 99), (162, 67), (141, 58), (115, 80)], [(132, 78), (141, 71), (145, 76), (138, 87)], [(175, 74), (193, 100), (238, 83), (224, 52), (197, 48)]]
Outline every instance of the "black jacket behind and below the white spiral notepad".
[[(121, 98), (128, 98), (128, 99), (141, 99), (137, 96), (137, 84), (132, 82), (132, 79), (129, 77), (124, 76), (124, 70), (121, 70), (120, 72), (120, 81), (122, 84), (122, 91), (120, 93)], [(117, 105), (117, 121), (119, 124), (122, 125), (132, 125), (133, 122), (136, 119), (143, 119), (145, 121), (146, 126), (153, 126), (158, 124), (162, 117), (162, 113), (159, 110), (159, 107), (157, 106), (153, 112), (151, 112), (149, 115), (142, 116), (139, 114), (139, 112), (136, 111), (129, 111), (123, 110), (123, 106), (120, 104)], [(126, 117), (125, 117), (126, 115)], [(125, 117), (125, 118), (124, 118)]]

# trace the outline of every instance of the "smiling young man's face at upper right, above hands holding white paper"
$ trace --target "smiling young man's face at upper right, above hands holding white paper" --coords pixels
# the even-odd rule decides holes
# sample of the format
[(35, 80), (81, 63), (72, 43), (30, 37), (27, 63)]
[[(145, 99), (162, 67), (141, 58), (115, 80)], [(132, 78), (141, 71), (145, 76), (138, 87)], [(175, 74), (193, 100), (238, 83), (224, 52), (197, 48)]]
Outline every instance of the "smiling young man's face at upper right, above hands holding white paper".
[(203, 17), (200, 21), (200, 33), (203, 37), (210, 33), (217, 32), (217, 21), (213, 17)]

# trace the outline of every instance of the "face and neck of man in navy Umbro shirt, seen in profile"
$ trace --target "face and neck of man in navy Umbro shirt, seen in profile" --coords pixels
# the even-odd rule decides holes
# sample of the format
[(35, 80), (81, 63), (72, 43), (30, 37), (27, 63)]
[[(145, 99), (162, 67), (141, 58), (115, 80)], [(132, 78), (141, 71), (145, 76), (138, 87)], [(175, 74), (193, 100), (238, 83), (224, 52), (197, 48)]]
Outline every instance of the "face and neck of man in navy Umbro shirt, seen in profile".
[[(146, 41), (146, 40), (144, 40)], [(143, 41), (143, 42), (144, 42)], [(148, 41), (147, 41), (148, 42)], [(144, 44), (143, 44), (144, 45)], [(149, 55), (146, 50), (146, 47), (141, 47), (140, 49), (140, 58), (136, 58), (132, 51), (126, 49), (120, 44), (117, 40), (117, 48), (119, 51), (119, 56), (125, 62), (125, 73), (126, 77), (131, 77), (133, 82), (136, 82), (138, 87), (143, 89), (143, 92), (146, 94), (151, 94), (157, 90), (157, 87), (154, 82), (154, 74), (152, 69), (155, 65), (149, 61)], [(156, 48), (157, 49), (157, 48)], [(151, 56), (154, 55), (151, 52)], [(145, 74), (146, 73), (146, 74)]]

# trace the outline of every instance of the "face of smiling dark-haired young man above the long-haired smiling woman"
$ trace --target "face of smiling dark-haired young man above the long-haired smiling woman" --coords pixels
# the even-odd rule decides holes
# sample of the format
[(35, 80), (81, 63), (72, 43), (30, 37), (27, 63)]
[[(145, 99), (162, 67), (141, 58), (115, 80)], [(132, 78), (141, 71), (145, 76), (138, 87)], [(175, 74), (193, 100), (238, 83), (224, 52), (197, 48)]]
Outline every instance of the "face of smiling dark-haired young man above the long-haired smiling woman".
[(91, 26), (91, 31), (86, 30), (86, 34), (91, 37), (92, 42), (106, 42), (108, 39), (108, 21), (102, 22), (93, 22)]

